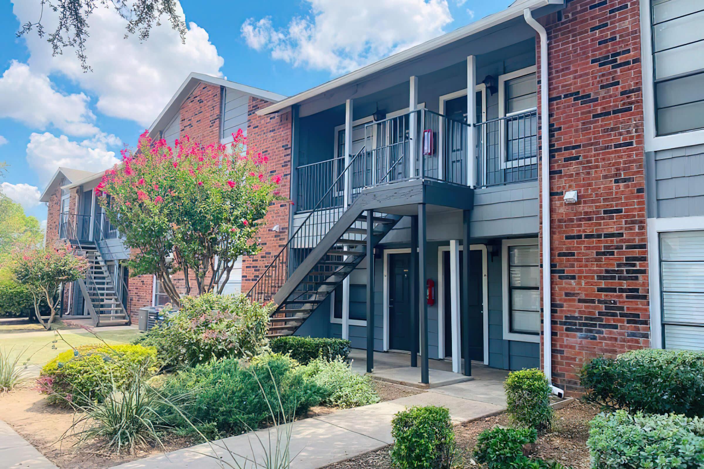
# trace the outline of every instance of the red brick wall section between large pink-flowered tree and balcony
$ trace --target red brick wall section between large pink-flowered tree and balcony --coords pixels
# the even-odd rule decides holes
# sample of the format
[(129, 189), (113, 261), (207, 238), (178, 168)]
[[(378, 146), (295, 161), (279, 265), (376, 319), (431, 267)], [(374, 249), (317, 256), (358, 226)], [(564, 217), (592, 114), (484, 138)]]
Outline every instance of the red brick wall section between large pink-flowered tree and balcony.
[[(289, 197), (291, 183), (291, 113), (276, 113), (258, 116), (256, 111), (270, 103), (258, 98), (249, 98), (249, 119), (247, 122), (247, 148), (269, 157), (272, 174), (282, 176), (281, 194)], [(242, 259), (242, 292), (246, 293), (259, 278), (279, 250), (288, 240), (289, 200), (272, 203), (264, 224), (259, 230), (261, 252), (253, 257)], [(271, 231), (279, 225), (279, 231)]]

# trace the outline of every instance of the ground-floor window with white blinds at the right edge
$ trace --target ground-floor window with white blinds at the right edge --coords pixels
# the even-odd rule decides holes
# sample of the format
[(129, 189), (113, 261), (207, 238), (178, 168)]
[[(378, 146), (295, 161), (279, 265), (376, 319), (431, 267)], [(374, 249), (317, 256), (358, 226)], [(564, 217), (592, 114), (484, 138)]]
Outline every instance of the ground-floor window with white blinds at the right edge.
[(660, 234), (665, 348), (704, 350), (704, 231)]

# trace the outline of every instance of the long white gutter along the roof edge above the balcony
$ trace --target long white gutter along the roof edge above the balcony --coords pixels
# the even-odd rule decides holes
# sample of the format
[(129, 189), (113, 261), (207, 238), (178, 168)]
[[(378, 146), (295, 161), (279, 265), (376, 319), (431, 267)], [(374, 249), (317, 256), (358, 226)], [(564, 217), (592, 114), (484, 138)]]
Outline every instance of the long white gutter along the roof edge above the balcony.
[(446, 46), (454, 41), (469, 37), (472, 34), (477, 34), (478, 32), (488, 30), (489, 28), (505, 23), (508, 20), (522, 17), (523, 11), (526, 8), (533, 11), (544, 6), (562, 5), (564, 3), (564, 0), (516, 0), (513, 4), (511, 4), (511, 6), (502, 11), (498, 11), (497, 13), (486, 16), (481, 20), (477, 20), (474, 23), (460, 27), (457, 30), (443, 34), (442, 36), (425, 41), (424, 43), (413, 46), (405, 51), (395, 53), (393, 56), (383, 58), (378, 62), (367, 65), (366, 67), (355, 70), (354, 72), (350, 72), (347, 75), (342, 75), (341, 77), (332, 79), (329, 82), (315, 86), (308, 91), (303, 91), (302, 93), (291, 96), (290, 98), (286, 98), (283, 101), (279, 101), (276, 104), (268, 106), (267, 108), (258, 110), (257, 114), (267, 115), (276, 113), (277, 111), (287, 108), (290, 105), (301, 103), (302, 101), (306, 101), (308, 98), (313, 98), (314, 96), (318, 96), (319, 94), (323, 94), (327, 91), (338, 88), (339, 86), (357, 82), (364, 77), (380, 72), (386, 68), (391, 68), (399, 63), (417, 58), (418, 56), (432, 51), (433, 49), (438, 49), (439, 47)]

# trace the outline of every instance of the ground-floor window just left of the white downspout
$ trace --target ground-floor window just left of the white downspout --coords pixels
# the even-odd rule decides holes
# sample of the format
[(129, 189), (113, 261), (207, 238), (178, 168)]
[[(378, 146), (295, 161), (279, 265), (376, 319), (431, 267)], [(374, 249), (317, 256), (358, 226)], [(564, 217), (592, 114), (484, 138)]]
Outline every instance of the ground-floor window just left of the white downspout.
[(538, 245), (508, 247), (510, 331), (540, 333)]

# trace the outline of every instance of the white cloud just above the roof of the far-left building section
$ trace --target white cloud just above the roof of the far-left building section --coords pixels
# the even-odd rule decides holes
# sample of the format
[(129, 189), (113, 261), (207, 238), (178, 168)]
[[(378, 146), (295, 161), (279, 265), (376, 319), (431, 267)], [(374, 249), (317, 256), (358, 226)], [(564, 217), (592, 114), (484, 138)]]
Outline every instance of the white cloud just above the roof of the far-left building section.
[(92, 143), (95, 142), (70, 141), (65, 135), (57, 137), (49, 132), (32, 133), (27, 143), (27, 163), (46, 183), (60, 166), (99, 172), (118, 162), (115, 152), (107, 150), (106, 144)]

